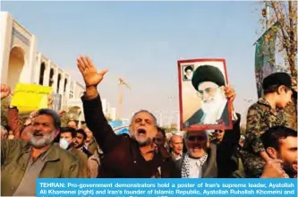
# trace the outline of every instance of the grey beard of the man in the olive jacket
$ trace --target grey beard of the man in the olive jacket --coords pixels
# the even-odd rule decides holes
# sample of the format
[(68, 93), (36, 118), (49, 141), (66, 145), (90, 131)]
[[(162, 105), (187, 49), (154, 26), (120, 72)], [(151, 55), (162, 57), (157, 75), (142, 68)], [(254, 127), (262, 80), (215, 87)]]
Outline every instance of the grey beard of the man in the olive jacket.
[[(30, 145), (34, 148), (43, 148), (49, 144), (51, 144), (55, 140), (55, 131), (52, 133), (41, 133), (38, 131), (34, 131), (32, 133), (28, 133), (30, 137)], [(37, 138), (36, 136), (42, 136), (41, 138)]]

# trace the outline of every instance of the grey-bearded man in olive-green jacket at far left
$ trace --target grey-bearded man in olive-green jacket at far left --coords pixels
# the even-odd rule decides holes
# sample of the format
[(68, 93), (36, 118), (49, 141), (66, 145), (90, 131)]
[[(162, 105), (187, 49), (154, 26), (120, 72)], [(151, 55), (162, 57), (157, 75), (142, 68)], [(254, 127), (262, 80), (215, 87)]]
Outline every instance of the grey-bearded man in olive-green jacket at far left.
[(30, 141), (1, 141), (1, 196), (35, 196), (37, 178), (78, 177), (78, 159), (53, 144), (60, 124), (55, 111), (40, 109)]

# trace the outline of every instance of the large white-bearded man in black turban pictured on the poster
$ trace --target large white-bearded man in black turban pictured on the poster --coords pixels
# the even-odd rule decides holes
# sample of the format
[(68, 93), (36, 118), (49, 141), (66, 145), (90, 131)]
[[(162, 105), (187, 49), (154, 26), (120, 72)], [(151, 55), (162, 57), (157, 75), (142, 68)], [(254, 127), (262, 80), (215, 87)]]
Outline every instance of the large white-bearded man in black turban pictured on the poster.
[[(185, 123), (193, 124), (229, 124), (227, 95), (234, 95), (234, 90), (226, 86), (223, 73), (215, 66), (200, 65), (192, 76), (192, 86), (197, 90), (201, 107)], [(233, 101), (233, 100), (230, 100)]]

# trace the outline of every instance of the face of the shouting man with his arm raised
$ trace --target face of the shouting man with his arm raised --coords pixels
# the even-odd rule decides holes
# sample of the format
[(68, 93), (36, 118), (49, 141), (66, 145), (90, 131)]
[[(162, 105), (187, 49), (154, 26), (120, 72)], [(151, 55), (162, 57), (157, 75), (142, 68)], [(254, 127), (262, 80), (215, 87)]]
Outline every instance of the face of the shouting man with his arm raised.
[(158, 133), (154, 118), (147, 112), (140, 112), (132, 119), (130, 125), (132, 137), (140, 146), (148, 145)]

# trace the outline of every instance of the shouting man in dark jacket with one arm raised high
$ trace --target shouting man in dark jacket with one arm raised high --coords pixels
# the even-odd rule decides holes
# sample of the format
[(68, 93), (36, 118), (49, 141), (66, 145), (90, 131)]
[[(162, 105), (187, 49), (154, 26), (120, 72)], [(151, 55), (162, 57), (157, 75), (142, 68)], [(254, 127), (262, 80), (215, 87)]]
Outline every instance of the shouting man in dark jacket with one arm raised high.
[(158, 146), (158, 151), (155, 149), (156, 117), (147, 110), (140, 110), (132, 116), (131, 137), (115, 135), (107, 124), (97, 90), (107, 70), (98, 73), (87, 56), (80, 56), (77, 65), (86, 84), (82, 97), (85, 120), (105, 154), (100, 177), (179, 177), (165, 147)]

